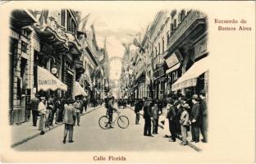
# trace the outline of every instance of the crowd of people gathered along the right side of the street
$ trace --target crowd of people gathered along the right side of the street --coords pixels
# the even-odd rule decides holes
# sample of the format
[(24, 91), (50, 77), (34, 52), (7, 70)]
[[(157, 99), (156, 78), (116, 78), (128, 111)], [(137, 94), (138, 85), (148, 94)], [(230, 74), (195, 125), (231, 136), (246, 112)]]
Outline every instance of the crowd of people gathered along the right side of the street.
[[(166, 104), (166, 106), (164, 105)], [(192, 140), (198, 143), (201, 132), (203, 143), (208, 142), (208, 109), (205, 92), (194, 94), (192, 98), (185, 98), (181, 93), (166, 98), (166, 102), (153, 100), (152, 98), (137, 99), (135, 101), (135, 124), (139, 124), (139, 111), (143, 110), (144, 136), (153, 137), (158, 134), (158, 127), (162, 127), (167, 133), (165, 138), (170, 142), (176, 142), (181, 136), (181, 145), (188, 144), (187, 135), (191, 131)]]

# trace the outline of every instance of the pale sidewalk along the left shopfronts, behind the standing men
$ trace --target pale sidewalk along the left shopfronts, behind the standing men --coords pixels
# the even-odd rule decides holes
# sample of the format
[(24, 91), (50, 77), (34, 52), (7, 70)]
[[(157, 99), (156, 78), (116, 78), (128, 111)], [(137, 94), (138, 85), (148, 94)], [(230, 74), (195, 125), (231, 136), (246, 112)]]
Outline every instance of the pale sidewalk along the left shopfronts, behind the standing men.
[[(93, 112), (94, 110), (98, 109), (99, 107), (87, 107), (87, 111), (81, 115), (84, 116), (85, 114), (89, 112)], [(53, 121), (54, 123), (54, 121)], [(51, 130), (57, 128), (62, 124), (54, 124)], [(39, 129), (39, 119), (37, 120), (37, 126), (33, 126), (32, 123), (32, 118), (30, 118), (30, 121), (24, 122), (21, 125), (11, 125), (11, 135), (12, 135), (12, 140), (11, 140), (11, 148), (14, 148), (18, 146), (19, 144), (23, 144), (26, 141), (30, 139), (34, 139), (35, 137), (40, 135)], [(45, 129), (44, 132), (47, 134), (49, 129)]]

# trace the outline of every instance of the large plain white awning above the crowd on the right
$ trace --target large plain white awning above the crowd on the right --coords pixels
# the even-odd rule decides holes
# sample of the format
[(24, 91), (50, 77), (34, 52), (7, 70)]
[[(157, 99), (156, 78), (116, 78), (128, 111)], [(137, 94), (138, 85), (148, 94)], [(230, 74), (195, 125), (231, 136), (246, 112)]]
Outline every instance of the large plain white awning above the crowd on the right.
[(208, 71), (208, 57), (204, 57), (198, 62), (195, 62), (180, 79), (171, 85), (171, 90), (176, 91), (178, 89), (195, 86), (199, 75), (202, 75), (206, 71)]

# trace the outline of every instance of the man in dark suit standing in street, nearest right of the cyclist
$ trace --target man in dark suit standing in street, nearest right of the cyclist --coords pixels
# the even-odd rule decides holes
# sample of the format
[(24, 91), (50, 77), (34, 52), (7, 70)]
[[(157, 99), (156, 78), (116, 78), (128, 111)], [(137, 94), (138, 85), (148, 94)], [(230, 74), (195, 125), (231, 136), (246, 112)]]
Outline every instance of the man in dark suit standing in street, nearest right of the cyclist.
[(144, 136), (149, 136), (153, 137), (151, 134), (151, 121), (153, 121), (153, 113), (152, 113), (152, 99), (148, 98), (146, 102), (144, 103), (144, 120), (145, 120), (145, 125), (144, 125)]

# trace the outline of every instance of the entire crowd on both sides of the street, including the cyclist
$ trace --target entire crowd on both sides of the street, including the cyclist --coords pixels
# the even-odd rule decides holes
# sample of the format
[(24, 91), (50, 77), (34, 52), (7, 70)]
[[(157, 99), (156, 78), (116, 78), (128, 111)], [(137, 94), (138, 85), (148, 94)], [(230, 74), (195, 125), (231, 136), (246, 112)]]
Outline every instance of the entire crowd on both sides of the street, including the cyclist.
[[(115, 102), (119, 106), (125, 106), (121, 100), (115, 101), (114, 97), (105, 98), (105, 107), (109, 116), (109, 125), (112, 128), (112, 114), (117, 111), (114, 107)], [(101, 101), (99, 104), (103, 104)], [(130, 103), (131, 104), (131, 103)], [(144, 136), (153, 137), (158, 134), (158, 128), (165, 130), (163, 136), (169, 138), (170, 142), (176, 142), (176, 138), (181, 136), (181, 145), (188, 144), (188, 131), (191, 131), (192, 140), (198, 143), (201, 132), (203, 143), (208, 142), (208, 108), (205, 92), (194, 94), (192, 98), (185, 98), (181, 93), (171, 95), (165, 101), (153, 100), (152, 98), (136, 99), (135, 105), (135, 124), (139, 125), (139, 112), (143, 111), (144, 116)], [(37, 126), (39, 116), (40, 134), (44, 134), (46, 128), (53, 127), (55, 124), (65, 124), (63, 144), (66, 144), (66, 136), (69, 133), (69, 142), (73, 141), (73, 130), (75, 125), (80, 125), (80, 115), (88, 107), (88, 99), (78, 96), (73, 99), (39, 97), (31, 99), (30, 108), (33, 115), (33, 126)], [(171, 135), (168, 135), (171, 134)]]

